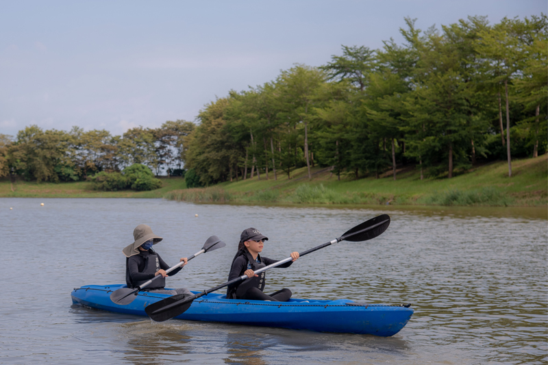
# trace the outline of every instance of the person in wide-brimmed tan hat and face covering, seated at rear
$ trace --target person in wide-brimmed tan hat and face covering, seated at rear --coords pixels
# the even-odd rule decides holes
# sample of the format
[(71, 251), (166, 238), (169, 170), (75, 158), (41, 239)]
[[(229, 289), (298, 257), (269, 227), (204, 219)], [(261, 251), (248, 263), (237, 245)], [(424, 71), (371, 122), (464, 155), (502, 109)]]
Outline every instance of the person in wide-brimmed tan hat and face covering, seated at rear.
[(182, 257), (179, 262), (184, 261), (183, 266), (175, 268), (169, 275), (166, 273), (166, 269), (170, 266), (162, 260), (162, 257), (158, 255), (152, 249), (153, 244), (157, 244), (162, 237), (153, 234), (151, 227), (148, 225), (138, 225), (134, 231), (133, 236), (135, 242), (129, 244), (122, 250), (125, 259), (125, 282), (127, 288), (136, 288), (146, 281), (149, 281), (156, 275), (162, 275), (161, 279), (155, 279), (149, 286), (143, 288), (145, 292), (155, 292), (160, 294), (192, 294), (187, 288), (179, 288), (174, 290), (165, 290), (167, 276), (173, 276), (177, 274), (184, 265), (186, 265), (186, 257)]

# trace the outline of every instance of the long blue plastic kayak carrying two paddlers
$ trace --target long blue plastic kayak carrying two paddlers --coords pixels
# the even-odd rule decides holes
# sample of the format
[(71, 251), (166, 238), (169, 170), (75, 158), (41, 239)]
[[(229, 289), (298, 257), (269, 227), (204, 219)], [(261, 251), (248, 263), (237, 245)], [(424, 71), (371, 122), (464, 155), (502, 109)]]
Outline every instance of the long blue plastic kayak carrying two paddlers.
[[(138, 316), (147, 315), (147, 305), (169, 297), (165, 294), (139, 292), (132, 303), (118, 305), (110, 300), (110, 294), (119, 288), (126, 286), (82, 286), (75, 288), (71, 297), (73, 303), (87, 307)], [(388, 337), (398, 333), (408, 323), (413, 312), (410, 307), (401, 305), (356, 303), (349, 299), (268, 302), (226, 299), (224, 294), (210, 293), (193, 301), (186, 312), (175, 318)]]

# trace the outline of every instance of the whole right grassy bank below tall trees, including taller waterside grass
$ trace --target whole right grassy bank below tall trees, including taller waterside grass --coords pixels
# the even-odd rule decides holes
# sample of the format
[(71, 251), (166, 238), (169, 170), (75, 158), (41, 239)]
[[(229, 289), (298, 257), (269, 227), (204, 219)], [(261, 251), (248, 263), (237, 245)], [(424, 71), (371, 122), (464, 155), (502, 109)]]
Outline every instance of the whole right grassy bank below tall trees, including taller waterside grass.
[(264, 174), (209, 188), (172, 190), (166, 199), (194, 202), (303, 203), (367, 205), (472, 205), (472, 206), (546, 206), (548, 204), (548, 155), (512, 162), (508, 177), (507, 162), (477, 166), (452, 179), (420, 179), (420, 171), (407, 166), (381, 178), (338, 181), (327, 169), (306, 168), (292, 171), (291, 179), (278, 173), (274, 179)]

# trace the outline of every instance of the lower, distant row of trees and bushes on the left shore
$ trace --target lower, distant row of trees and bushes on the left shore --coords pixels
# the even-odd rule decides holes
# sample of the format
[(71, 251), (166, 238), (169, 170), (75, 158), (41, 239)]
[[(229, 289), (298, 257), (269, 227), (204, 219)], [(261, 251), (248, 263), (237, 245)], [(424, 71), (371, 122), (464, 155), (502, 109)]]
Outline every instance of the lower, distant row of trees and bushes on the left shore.
[(0, 176), (78, 181), (101, 172), (120, 173), (134, 164), (148, 166), (155, 175), (180, 176), (184, 172), (184, 140), (194, 129), (194, 123), (178, 120), (155, 129), (135, 127), (122, 136), (112, 136), (104, 129), (44, 131), (31, 125), (18, 131), (15, 138), (0, 134)]

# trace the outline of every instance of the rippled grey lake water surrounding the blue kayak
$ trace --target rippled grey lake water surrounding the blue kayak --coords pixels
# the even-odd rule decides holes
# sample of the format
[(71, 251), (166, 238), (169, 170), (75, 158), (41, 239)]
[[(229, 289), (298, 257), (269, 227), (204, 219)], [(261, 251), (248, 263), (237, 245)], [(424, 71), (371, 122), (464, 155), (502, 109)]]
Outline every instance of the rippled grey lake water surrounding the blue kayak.
[(408, 325), (380, 338), (154, 323), (73, 305), (70, 294), (83, 285), (125, 282), (121, 250), (140, 223), (164, 238), (155, 249), (171, 265), (209, 236), (227, 242), (168, 279), (172, 288), (203, 290), (226, 281), (247, 227), (270, 238), (266, 257), (281, 260), (382, 210), (0, 199), (0, 363), (546, 364), (547, 221), (501, 209), (506, 214), (475, 216), (390, 207), (390, 227), (374, 240), (340, 242), (269, 270), (267, 292), (285, 287), (300, 298), (412, 303)]

